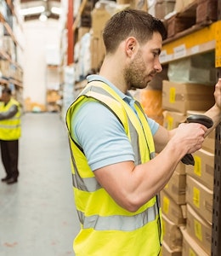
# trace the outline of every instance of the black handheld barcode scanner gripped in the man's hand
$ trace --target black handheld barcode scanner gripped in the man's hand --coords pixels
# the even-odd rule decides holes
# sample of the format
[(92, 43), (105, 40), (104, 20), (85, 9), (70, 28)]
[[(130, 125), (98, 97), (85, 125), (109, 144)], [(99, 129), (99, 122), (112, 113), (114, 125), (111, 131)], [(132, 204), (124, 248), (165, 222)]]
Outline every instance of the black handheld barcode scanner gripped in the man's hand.
[[(211, 128), (213, 125), (212, 119), (204, 114), (192, 114), (186, 119), (186, 123), (198, 123), (205, 125), (207, 128)], [(185, 165), (195, 165), (195, 160), (192, 154), (185, 154), (181, 160)]]

